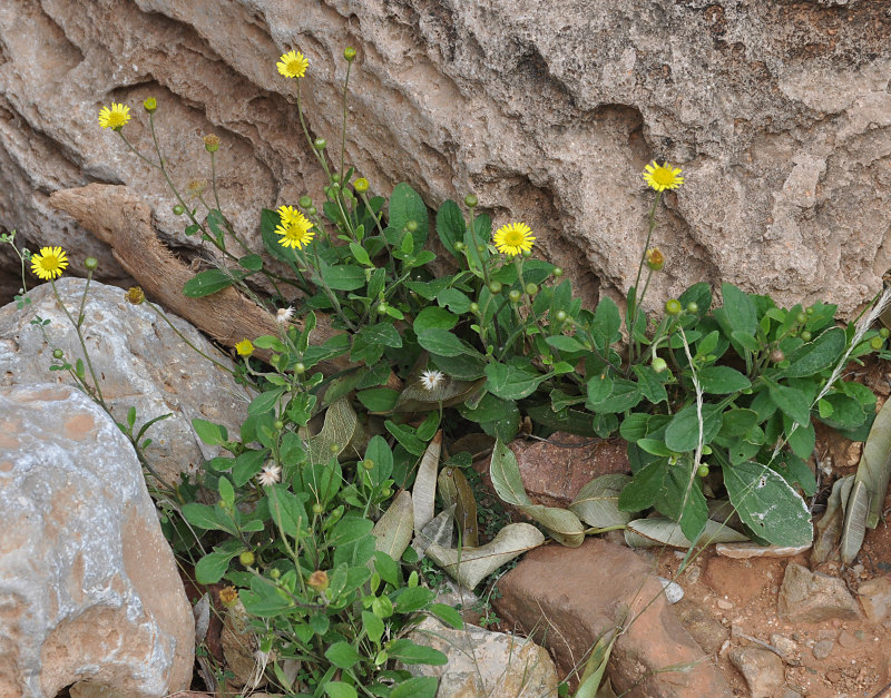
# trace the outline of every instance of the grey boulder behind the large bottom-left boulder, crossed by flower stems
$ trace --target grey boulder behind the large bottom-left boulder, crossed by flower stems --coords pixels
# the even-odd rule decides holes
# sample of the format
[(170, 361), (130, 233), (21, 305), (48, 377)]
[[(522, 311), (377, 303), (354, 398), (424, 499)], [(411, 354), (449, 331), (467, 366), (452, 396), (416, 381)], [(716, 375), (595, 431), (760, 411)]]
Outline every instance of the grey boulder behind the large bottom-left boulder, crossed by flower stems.
[[(85, 281), (62, 277), (56, 282), (59, 296), (75, 317), (84, 294)], [(43, 284), (29, 292), (31, 304), (19, 311), (14, 303), (0, 308), (0, 385), (58, 381), (72, 384), (66, 371), (49, 371), (52, 352), (60, 348), (75, 364), (84, 356), (77, 334), (52, 294)], [(246, 416), (249, 397), (232, 375), (215, 366), (186, 345), (161, 317), (147, 305), (130, 305), (116, 286), (92, 282), (84, 306), (82, 332), (90, 361), (99, 376), (106, 404), (118, 422), (126, 422), (134, 406), (137, 430), (163, 414), (173, 417), (156, 422), (144, 434), (151, 439), (145, 451), (154, 470), (168, 482), (180, 472), (195, 473), (215, 446), (200, 443), (192, 420), (200, 417), (226, 426), (234, 435)], [(49, 319), (41, 332), (31, 325), (35, 317)], [(194, 346), (224, 366), (232, 366), (194, 327), (168, 316)], [(46, 334), (46, 338), (45, 338)], [(92, 384), (87, 373), (87, 381)]]

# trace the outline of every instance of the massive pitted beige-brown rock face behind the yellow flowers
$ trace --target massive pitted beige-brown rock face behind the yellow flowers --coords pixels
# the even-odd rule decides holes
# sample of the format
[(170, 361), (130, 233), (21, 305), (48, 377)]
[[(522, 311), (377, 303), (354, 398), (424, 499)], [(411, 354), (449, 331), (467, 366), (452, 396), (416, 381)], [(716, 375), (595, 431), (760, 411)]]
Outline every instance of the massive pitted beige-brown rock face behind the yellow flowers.
[(123, 183), (185, 243), (158, 174), (96, 120), (130, 105), (126, 132), (148, 148), (153, 95), (182, 186), (208, 176), (199, 136), (223, 137), (224, 208), (253, 233), (260, 206), (320, 195), (276, 58), (310, 58), (310, 126), (333, 144), (353, 45), (347, 159), (378, 191), (407, 180), (435, 207), (476, 190), (496, 225), (527, 220), (590, 302), (598, 281), (634, 282), (652, 201), (640, 170), (667, 158), (687, 184), (655, 232), (669, 262), (654, 303), (730, 281), (850, 313), (891, 266), (889, 35), (875, 0), (7, 0), (0, 225), (94, 254), (115, 281), (46, 198)]

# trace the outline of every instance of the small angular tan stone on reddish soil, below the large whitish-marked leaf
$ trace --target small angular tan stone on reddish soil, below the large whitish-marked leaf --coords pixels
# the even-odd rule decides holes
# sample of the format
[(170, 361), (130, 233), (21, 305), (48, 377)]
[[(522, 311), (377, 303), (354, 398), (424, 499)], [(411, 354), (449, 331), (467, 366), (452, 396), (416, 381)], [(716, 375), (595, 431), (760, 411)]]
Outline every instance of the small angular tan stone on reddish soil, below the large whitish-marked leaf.
[(843, 580), (811, 572), (794, 562), (786, 566), (776, 604), (780, 616), (792, 622), (860, 618), (856, 601)]

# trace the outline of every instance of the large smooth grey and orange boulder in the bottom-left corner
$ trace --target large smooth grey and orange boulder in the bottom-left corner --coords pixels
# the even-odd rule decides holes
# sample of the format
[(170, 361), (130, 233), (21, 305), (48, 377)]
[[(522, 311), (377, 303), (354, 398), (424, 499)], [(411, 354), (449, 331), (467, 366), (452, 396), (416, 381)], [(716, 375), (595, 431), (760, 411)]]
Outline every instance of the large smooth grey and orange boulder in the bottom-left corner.
[(67, 385), (0, 387), (0, 696), (159, 698), (194, 620), (127, 440)]

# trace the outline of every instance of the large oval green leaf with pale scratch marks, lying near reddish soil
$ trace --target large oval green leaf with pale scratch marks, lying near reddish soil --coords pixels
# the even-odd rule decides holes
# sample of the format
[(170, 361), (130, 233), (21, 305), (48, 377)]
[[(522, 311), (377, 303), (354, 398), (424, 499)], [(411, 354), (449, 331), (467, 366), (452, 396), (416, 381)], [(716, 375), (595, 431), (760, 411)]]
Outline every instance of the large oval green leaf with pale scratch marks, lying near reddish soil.
[(774, 545), (806, 545), (812, 540), (805, 501), (776, 472), (746, 461), (725, 465), (724, 484), (740, 519)]

